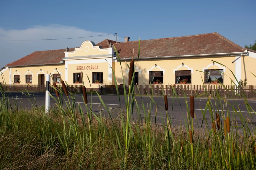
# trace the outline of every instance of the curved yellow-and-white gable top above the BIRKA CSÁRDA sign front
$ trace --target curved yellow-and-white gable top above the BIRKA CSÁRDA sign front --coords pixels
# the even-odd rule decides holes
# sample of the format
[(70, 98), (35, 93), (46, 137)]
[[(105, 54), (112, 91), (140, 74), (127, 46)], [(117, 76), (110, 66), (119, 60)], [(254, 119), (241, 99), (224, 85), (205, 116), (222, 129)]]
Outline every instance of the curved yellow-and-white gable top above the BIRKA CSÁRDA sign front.
[(99, 46), (93, 46), (90, 41), (84, 41), (81, 47), (75, 48), (74, 52), (66, 52), (68, 57), (102, 55), (109, 54), (108, 48), (100, 49)]

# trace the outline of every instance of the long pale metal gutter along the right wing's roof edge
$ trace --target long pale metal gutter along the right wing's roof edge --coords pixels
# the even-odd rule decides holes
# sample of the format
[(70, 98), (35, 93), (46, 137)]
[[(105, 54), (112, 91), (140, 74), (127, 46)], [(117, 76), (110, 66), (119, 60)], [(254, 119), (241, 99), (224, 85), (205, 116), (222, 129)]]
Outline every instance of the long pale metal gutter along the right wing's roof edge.
[[(176, 57), (205, 57), (205, 56), (212, 56), (212, 55), (232, 55), (232, 54), (247, 54), (247, 50), (244, 52), (233, 52), (233, 53), (215, 53), (215, 54), (195, 54), (195, 55), (176, 55), (176, 56), (163, 56), (163, 57), (143, 57), (139, 59), (147, 59), (147, 58), (176, 58)], [(132, 58), (120, 58), (120, 60), (125, 59), (132, 59)]]

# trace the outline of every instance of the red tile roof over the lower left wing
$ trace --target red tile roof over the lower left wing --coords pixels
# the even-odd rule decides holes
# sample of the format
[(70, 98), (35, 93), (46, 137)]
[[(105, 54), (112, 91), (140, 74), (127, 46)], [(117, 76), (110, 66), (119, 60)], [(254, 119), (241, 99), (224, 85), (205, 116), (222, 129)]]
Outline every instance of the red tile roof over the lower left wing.
[[(6, 66), (23, 66), (23, 65), (38, 65), (38, 64), (52, 64), (60, 63), (62, 58), (65, 57), (66, 49), (60, 50), (47, 50), (36, 51), (23, 58), (20, 58)], [(70, 48), (69, 51), (74, 51), (74, 48)]]

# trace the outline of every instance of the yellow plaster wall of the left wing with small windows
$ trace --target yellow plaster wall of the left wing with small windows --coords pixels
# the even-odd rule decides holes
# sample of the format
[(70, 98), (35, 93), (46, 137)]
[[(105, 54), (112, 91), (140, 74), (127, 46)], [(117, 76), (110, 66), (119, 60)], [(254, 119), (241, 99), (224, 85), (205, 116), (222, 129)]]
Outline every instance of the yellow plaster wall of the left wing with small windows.
[[(32, 84), (38, 84), (40, 80), (38, 80), (39, 76), (37, 74), (44, 74), (45, 73), (45, 79), (46, 74), (53, 73), (57, 74), (57, 71), (55, 71), (55, 68), (57, 68), (61, 74), (61, 77), (65, 77), (65, 65), (51, 65), (51, 66), (26, 66), (26, 67), (13, 67), (11, 68), (11, 81), (14, 81), (14, 75), (20, 75), (20, 83), (19, 84), (26, 84), (26, 75), (33, 75), (32, 76)], [(42, 69), (42, 71), (40, 71)], [(8, 68), (6, 71), (3, 72), (5, 82), (6, 84), (10, 84), (10, 76), (9, 76), (9, 70)], [(17, 72), (16, 72), (17, 70)], [(28, 72), (28, 70), (31, 72)], [(3, 80), (1, 78), (1, 83), (3, 83)], [(52, 81), (51, 81), (52, 83)], [(12, 83), (11, 83), (12, 84)]]

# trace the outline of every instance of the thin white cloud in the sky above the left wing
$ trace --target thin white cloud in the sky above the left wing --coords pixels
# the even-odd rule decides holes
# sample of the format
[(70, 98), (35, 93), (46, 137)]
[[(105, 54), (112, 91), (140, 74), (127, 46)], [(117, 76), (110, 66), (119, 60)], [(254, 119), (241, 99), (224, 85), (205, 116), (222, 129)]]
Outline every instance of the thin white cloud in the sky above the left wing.
[[(110, 32), (112, 33), (112, 32)], [(88, 37), (94, 35), (109, 34), (105, 32), (87, 31), (81, 28), (63, 25), (33, 26), (24, 30), (4, 30), (0, 28), (0, 39), (30, 40), (30, 39), (58, 39)], [(85, 40), (95, 44), (104, 40), (115, 40), (114, 35), (88, 37), (69, 40), (46, 40), (46, 41), (0, 41), (0, 68), (4, 65), (22, 58), (34, 51), (64, 49), (66, 47), (79, 47)], [(117, 37), (118, 41), (121, 40)]]

